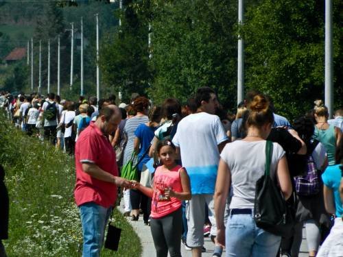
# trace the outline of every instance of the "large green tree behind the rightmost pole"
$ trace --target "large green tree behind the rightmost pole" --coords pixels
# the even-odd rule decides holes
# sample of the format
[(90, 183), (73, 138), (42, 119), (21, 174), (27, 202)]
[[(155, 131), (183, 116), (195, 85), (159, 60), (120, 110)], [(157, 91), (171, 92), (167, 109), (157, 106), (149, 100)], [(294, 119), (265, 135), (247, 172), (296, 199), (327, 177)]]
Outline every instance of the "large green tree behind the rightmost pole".
[[(333, 1), (335, 88), (342, 88), (339, 22), (341, 1)], [(267, 15), (268, 14), (268, 15)], [(342, 15), (342, 14), (341, 14)], [(277, 112), (294, 118), (324, 97), (324, 4), (322, 1), (263, 0), (248, 6), (246, 86), (267, 93)], [(340, 84), (339, 84), (340, 83)], [(336, 100), (342, 104), (341, 93)]]

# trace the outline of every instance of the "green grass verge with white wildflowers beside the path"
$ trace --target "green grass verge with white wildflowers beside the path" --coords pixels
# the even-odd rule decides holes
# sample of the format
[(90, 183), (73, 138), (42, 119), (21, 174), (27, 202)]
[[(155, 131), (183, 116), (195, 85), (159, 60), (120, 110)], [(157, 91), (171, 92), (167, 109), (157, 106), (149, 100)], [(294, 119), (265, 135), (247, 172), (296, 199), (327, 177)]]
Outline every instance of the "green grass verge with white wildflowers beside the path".
[[(81, 256), (73, 159), (16, 130), (2, 112), (0, 149), (10, 195), (8, 256)], [(102, 256), (141, 256), (137, 234), (118, 211), (114, 223), (122, 229), (119, 250)]]

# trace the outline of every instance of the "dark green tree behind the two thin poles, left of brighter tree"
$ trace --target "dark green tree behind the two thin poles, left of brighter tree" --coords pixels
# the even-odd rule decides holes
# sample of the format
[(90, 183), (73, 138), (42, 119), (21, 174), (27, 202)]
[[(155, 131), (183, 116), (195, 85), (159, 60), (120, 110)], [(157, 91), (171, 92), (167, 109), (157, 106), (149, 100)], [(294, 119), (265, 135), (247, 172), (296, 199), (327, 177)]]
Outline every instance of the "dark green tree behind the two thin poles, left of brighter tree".
[(113, 91), (123, 93), (128, 101), (130, 94), (145, 93), (151, 73), (148, 66), (148, 25), (140, 19), (148, 9), (148, 2), (123, 1), (125, 6), (121, 29), (114, 36), (108, 35), (102, 44), (100, 66), (104, 83)]

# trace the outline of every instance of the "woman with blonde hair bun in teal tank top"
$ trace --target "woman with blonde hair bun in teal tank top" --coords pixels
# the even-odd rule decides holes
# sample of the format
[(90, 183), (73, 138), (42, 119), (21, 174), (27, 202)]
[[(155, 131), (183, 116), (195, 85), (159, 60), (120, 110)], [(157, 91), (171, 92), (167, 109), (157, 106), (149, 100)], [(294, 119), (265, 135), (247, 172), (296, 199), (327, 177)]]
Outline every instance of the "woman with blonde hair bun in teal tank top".
[(314, 139), (317, 139), (327, 149), (327, 158), (329, 165), (335, 164), (335, 147), (340, 142), (341, 131), (338, 127), (329, 125), (329, 111), (324, 106), (322, 100), (314, 101), (314, 117), (317, 124), (314, 127)]

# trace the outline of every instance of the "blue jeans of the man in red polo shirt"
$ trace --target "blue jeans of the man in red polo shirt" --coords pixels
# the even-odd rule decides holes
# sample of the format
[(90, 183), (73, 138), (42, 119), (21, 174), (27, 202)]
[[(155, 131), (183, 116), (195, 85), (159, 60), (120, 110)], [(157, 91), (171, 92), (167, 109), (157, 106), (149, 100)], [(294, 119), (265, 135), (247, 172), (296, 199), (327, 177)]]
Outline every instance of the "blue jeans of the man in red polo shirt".
[(83, 232), (82, 257), (97, 257), (100, 255), (108, 218), (112, 207), (104, 208), (89, 202), (80, 206), (80, 216)]

